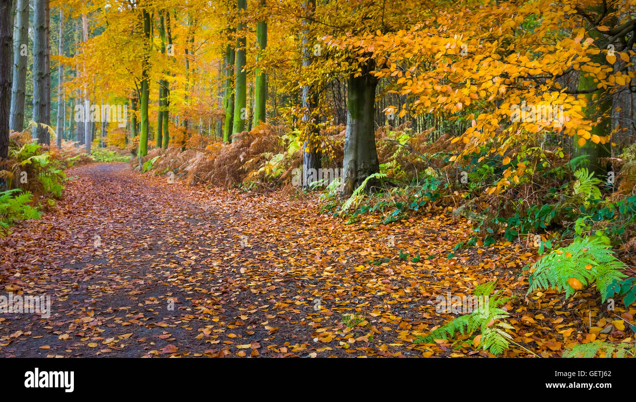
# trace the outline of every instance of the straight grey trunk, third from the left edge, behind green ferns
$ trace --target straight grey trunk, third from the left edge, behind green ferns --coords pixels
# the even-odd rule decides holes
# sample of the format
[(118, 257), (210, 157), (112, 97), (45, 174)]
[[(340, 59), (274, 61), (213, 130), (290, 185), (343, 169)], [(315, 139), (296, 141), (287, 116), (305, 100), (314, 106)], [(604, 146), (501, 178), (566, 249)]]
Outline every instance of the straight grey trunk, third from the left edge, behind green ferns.
[(46, 121), (46, 104), (50, 99), (46, 97), (46, 4), (48, 0), (34, 0), (33, 7), (33, 121), (38, 126), (33, 130), (33, 138), (38, 139), (38, 144), (49, 144), (50, 135)]

